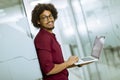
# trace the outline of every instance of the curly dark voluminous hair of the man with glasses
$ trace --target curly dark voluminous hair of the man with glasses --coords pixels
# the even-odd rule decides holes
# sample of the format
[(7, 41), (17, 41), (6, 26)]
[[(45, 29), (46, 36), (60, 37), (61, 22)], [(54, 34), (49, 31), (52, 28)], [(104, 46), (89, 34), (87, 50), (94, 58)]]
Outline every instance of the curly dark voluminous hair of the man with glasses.
[(40, 19), (39, 18), (39, 15), (44, 11), (44, 10), (49, 10), (52, 15), (53, 15), (53, 18), (56, 20), (57, 19), (57, 9), (54, 7), (53, 4), (51, 3), (48, 3), (48, 4), (40, 4), (38, 3), (34, 9), (32, 10), (32, 23), (34, 25), (34, 27), (36, 28), (40, 28), (40, 25), (37, 23), (38, 20)]

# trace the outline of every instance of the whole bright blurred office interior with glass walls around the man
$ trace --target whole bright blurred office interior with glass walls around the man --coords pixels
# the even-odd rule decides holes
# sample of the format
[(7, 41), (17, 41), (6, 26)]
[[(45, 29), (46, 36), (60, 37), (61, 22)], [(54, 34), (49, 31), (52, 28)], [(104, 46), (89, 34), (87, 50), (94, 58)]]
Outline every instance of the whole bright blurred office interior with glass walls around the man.
[(68, 69), (69, 80), (120, 80), (120, 0), (0, 0), (0, 80), (42, 80), (31, 23), (37, 3), (58, 9), (54, 33), (65, 60), (89, 56), (95, 37), (106, 37), (99, 61)]

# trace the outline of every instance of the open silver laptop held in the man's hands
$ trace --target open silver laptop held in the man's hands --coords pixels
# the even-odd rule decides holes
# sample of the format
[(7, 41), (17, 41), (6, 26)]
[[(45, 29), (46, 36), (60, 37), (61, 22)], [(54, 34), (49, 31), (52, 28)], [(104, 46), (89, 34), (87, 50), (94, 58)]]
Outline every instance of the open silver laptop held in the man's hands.
[(105, 36), (96, 36), (94, 40), (91, 56), (80, 58), (80, 60), (77, 63), (75, 63), (75, 65), (79, 66), (82, 64), (98, 61), (104, 46), (104, 41), (105, 41)]

